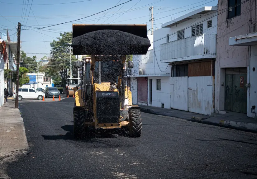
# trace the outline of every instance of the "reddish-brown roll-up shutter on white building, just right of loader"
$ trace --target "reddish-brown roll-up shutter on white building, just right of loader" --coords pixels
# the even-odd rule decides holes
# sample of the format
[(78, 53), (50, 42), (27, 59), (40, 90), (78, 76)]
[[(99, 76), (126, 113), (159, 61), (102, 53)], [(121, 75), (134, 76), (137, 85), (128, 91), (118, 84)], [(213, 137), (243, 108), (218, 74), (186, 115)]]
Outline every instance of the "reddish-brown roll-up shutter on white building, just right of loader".
[(137, 79), (137, 101), (147, 103), (147, 78), (138, 77)]

